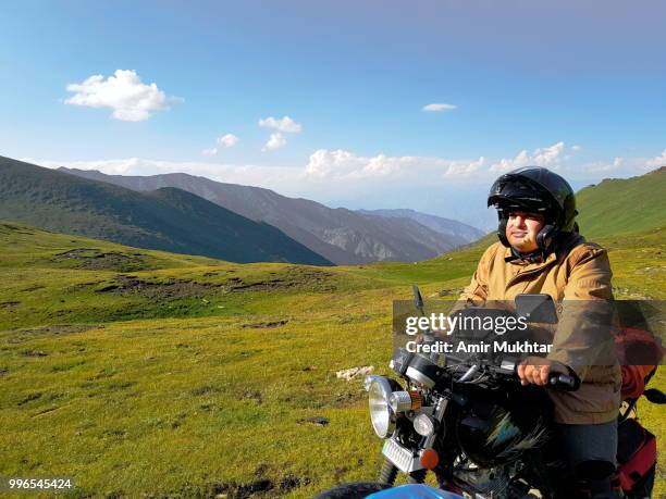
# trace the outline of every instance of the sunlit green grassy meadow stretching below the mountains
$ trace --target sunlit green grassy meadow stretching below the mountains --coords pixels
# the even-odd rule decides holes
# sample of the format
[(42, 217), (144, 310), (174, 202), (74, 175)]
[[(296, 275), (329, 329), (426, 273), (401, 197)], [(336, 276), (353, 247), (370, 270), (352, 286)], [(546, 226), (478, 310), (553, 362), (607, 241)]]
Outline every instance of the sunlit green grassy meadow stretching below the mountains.
[[(335, 372), (387, 373), (392, 301), (411, 284), (455, 296), (491, 240), (313, 267), (0, 223), (0, 475), (72, 477), (67, 497), (310, 498), (372, 479), (362, 379)], [(618, 298), (666, 298), (663, 229), (599, 242)], [(663, 411), (639, 411), (664, 456)]]

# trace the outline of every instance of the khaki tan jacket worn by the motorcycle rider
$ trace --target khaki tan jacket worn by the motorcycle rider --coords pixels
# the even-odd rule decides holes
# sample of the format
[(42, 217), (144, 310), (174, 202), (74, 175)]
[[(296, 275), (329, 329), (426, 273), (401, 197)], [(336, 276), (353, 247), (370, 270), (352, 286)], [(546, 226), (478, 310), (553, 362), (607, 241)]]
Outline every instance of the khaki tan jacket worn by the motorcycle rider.
[[(461, 300), (481, 304), (486, 300), (514, 300), (520, 294), (546, 294), (557, 303), (558, 324), (552, 332), (553, 347), (548, 359), (570, 369), (582, 381), (577, 391), (548, 388), (554, 403), (554, 419), (558, 423), (606, 423), (617, 416), (620, 404), (621, 374), (615, 365), (583, 365), (581, 352), (594, 348), (599, 337), (581, 326), (575, 313), (567, 314), (569, 300), (609, 300), (610, 264), (606, 250), (571, 236), (564, 250), (552, 252), (542, 263), (520, 260), (506, 262), (511, 254), (501, 242), (492, 245), (479, 261), (470, 285)], [(565, 301), (563, 301), (565, 300)], [(580, 302), (579, 302), (580, 303)], [(590, 321), (588, 321), (590, 322)]]

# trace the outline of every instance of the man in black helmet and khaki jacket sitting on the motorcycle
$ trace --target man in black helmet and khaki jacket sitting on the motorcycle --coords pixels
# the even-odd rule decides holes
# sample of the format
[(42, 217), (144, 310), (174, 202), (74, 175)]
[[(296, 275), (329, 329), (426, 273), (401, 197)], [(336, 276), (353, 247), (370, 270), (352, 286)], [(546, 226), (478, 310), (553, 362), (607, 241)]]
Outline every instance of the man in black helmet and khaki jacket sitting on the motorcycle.
[(574, 190), (546, 169), (528, 166), (502, 175), (488, 205), (497, 210), (499, 241), (481, 258), (461, 299), (481, 304), (545, 294), (559, 304), (551, 353), (526, 359), (517, 373), (522, 384), (546, 385), (551, 372), (581, 382), (577, 391), (548, 390), (562, 451), (576, 477), (575, 494), (620, 497), (615, 485), (620, 370), (617, 364), (581, 362), (581, 352), (595, 348), (594, 335), (575, 313), (567, 316), (562, 304), (613, 299), (606, 251), (578, 234)]

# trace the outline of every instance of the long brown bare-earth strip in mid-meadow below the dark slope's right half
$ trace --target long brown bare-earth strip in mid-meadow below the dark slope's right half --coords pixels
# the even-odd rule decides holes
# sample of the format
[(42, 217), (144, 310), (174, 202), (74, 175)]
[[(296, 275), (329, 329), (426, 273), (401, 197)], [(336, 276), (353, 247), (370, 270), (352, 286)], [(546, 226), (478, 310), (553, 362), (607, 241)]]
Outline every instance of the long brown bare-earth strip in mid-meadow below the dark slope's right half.
[(210, 295), (220, 287), (217, 284), (197, 283), (189, 279), (171, 279), (160, 283), (143, 280), (133, 275), (121, 275), (112, 284), (97, 289), (97, 292), (138, 295), (145, 298), (157, 299), (198, 298)]

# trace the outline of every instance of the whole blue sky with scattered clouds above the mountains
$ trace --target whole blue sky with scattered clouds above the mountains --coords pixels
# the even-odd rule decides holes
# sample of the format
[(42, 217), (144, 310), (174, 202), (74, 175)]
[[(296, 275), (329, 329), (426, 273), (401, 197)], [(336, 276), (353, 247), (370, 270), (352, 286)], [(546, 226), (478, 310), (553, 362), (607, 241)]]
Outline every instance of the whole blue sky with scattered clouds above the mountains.
[(485, 225), (513, 166), (580, 187), (666, 164), (665, 5), (4, 2), (0, 154)]

